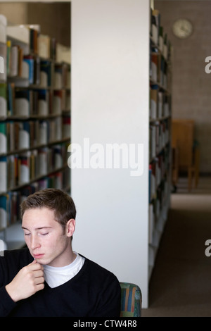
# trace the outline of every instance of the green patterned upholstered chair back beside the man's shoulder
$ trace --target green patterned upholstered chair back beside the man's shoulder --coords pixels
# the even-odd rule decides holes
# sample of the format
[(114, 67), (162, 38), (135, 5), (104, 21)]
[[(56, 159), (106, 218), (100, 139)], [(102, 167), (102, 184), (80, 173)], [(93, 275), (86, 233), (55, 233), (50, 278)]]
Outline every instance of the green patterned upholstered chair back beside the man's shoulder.
[(139, 286), (120, 282), (121, 287), (121, 317), (141, 317), (142, 294)]

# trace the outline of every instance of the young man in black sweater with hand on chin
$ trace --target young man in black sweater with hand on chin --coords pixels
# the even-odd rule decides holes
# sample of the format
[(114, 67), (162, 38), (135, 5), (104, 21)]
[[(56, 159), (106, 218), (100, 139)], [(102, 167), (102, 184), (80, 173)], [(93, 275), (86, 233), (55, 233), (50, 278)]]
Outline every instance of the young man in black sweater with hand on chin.
[(117, 277), (72, 251), (72, 198), (44, 189), (21, 214), (27, 248), (0, 257), (0, 316), (119, 317)]

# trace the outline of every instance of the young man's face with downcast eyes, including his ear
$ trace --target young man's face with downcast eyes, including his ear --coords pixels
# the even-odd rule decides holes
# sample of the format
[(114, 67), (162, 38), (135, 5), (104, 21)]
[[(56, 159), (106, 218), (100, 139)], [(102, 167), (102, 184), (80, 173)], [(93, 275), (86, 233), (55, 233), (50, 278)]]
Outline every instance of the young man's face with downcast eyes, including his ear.
[(67, 266), (70, 263), (70, 236), (75, 230), (75, 220), (70, 223), (70, 229), (67, 227), (64, 233), (63, 227), (54, 218), (54, 211), (49, 208), (25, 211), (22, 222), (25, 242), (37, 262), (54, 267)]

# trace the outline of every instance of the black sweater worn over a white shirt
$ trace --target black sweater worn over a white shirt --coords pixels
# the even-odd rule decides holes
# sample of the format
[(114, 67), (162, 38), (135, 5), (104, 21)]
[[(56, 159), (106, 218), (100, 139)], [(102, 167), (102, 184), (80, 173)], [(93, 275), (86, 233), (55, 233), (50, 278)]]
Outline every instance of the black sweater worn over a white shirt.
[(15, 303), (5, 286), (33, 261), (28, 249), (4, 251), (0, 257), (0, 316), (119, 317), (120, 283), (110, 271), (85, 258), (71, 280)]

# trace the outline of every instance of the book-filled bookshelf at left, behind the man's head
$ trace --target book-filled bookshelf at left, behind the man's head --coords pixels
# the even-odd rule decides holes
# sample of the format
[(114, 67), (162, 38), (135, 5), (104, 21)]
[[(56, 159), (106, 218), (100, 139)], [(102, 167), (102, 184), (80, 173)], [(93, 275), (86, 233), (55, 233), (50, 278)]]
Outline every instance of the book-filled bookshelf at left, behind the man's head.
[(0, 239), (15, 249), (20, 202), (46, 187), (70, 192), (70, 49), (39, 25), (6, 26), (0, 43)]

